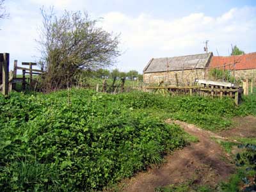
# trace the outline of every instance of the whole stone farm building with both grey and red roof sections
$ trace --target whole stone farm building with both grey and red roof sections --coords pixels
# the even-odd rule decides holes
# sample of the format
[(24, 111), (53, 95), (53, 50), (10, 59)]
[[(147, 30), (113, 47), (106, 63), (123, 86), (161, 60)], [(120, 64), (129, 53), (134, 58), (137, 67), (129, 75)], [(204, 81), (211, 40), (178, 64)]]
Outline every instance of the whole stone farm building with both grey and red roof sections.
[(209, 52), (172, 58), (152, 58), (143, 70), (143, 81), (164, 81), (174, 85), (177, 76), (180, 85), (187, 85), (196, 78), (211, 79), (211, 68), (229, 70), (232, 76), (235, 74), (236, 79), (256, 78), (256, 52), (237, 56), (213, 56), (212, 52)]

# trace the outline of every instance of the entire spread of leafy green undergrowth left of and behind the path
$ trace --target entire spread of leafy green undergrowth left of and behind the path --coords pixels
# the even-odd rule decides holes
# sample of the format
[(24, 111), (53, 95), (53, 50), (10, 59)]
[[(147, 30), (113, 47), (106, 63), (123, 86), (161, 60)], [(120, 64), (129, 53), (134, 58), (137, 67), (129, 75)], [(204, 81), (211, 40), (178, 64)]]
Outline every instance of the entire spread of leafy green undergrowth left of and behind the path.
[(1, 191), (91, 191), (158, 164), (197, 139), (166, 118), (216, 131), (255, 114), (248, 97), (118, 95), (72, 89), (0, 96)]

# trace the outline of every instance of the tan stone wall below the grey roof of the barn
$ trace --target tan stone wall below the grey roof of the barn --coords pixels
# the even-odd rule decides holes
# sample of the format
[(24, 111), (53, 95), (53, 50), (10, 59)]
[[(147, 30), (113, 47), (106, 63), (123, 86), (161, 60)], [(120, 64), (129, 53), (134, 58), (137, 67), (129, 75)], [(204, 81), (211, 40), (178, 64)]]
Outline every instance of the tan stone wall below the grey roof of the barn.
[(205, 70), (204, 69), (193, 69), (193, 70), (177, 70), (170, 72), (154, 72), (143, 74), (144, 83), (159, 83), (161, 81), (166, 82), (167, 84), (175, 85), (175, 74), (177, 74), (178, 81), (180, 86), (185, 86), (195, 82), (195, 79), (205, 79)]

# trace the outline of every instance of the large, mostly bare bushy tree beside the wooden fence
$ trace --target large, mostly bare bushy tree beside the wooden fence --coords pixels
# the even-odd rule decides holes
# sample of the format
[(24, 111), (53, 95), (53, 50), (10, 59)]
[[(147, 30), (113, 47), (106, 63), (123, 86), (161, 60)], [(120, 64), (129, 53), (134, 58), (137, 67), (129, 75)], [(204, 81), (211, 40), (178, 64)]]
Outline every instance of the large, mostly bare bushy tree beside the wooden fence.
[(95, 70), (112, 65), (120, 55), (118, 35), (96, 26), (87, 13), (67, 12), (56, 17), (53, 8), (42, 8), (41, 63), (46, 70), (47, 91), (67, 88), (76, 82), (81, 70)]

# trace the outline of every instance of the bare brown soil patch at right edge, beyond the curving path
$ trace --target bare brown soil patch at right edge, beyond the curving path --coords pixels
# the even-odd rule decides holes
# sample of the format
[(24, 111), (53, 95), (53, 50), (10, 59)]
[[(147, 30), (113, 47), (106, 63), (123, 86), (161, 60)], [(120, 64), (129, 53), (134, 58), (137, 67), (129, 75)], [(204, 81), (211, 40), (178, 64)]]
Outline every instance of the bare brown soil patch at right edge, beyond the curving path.
[(242, 137), (255, 138), (256, 137), (256, 117), (244, 116), (233, 119), (234, 124), (230, 129), (221, 131), (218, 134), (223, 137)]

